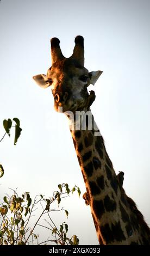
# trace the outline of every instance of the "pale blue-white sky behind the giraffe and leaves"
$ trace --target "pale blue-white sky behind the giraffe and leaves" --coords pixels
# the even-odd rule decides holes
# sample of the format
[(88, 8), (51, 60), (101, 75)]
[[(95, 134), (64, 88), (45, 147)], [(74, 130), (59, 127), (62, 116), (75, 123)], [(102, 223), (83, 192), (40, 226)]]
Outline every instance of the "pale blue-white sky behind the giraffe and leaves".
[[(83, 35), (86, 68), (103, 70), (92, 112), (116, 173), (125, 173), (124, 189), (150, 224), (149, 25), (149, 0), (1, 1), (0, 138), (3, 119), (20, 118), (22, 127), (16, 146), (13, 136), (0, 145), (5, 169), (1, 194), (18, 187), (51, 196), (61, 182), (85, 192), (67, 120), (54, 112), (49, 89), (32, 80), (51, 66), (52, 37), (60, 39), (69, 57), (74, 37)], [(74, 196), (65, 208), (70, 211), (70, 234), (77, 234), (81, 244), (96, 244), (83, 199)]]

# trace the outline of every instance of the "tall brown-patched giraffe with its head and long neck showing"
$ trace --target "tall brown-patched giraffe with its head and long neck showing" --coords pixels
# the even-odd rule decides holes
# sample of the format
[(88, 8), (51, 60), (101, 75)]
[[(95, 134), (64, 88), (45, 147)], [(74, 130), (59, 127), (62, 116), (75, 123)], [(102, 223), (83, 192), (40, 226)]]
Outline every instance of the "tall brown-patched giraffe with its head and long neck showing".
[(42, 88), (51, 87), (54, 109), (68, 118), (85, 182), (84, 198), (91, 208), (99, 244), (148, 245), (150, 229), (123, 190), (123, 180), (120, 182), (116, 176), (91, 113), (95, 92), (88, 93), (87, 87), (96, 83), (102, 71), (89, 72), (84, 67), (84, 39), (80, 35), (75, 38), (70, 58), (62, 55), (59, 39), (52, 38), (51, 58), (47, 75), (36, 75), (33, 79)]

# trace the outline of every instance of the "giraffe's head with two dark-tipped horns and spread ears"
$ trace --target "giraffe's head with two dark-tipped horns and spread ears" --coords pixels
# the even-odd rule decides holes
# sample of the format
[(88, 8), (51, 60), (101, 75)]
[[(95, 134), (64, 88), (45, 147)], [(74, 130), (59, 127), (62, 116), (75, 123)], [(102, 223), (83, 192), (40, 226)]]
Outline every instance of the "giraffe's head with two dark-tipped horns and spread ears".
[(79, 111), (90, 107), (95, 100), (95, 93), (87, 92), (90, 84), (95, 84), (102, 71), (89, 72), (84, 68), (84, 39), (78, 35), (75, 39), (73, 54), (70, 58), (62, 55), (59, 39), (51, 39), (52, 66), (47, 75), (36, 75), (36, 83), (47, 88), (51, 86), (54, 96), (54, 108), (62, 112)]

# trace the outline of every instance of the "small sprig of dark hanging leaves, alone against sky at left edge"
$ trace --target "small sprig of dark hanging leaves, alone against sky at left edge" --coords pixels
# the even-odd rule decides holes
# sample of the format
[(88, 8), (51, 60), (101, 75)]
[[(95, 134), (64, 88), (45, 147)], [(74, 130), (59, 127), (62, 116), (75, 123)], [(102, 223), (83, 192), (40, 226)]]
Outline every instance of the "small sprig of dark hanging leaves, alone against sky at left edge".
[[(12, 126), (12, 123), (15, 122), (15, 126)], [(8, 136), (10, 137), (10, 129), (11, 127), (15, 127), (15, 138), (14, 138), (14, 145), (16, 145), (18, 138), (20, 137), (21, 134), (21, 127), (20, 127), (20, 120), (18, 118), (13, 118), (12, 120), (9, 118), (8, 120), (4, 119), (3, 120), (3, 126), (5, 129), (5, 134), (4, 136), (1, 138), (0, 142), (3, 140), (3, 138), (5, 137), (5, 135), (8, 134)]]

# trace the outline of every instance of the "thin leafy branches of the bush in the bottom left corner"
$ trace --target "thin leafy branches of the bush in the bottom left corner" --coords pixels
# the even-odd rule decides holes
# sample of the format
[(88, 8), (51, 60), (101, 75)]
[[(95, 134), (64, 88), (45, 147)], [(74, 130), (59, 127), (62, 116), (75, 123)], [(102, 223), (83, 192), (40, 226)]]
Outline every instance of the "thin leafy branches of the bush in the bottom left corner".
[[(67, 236), (68, 225), (63, 222), (58, 228), (52, 220), (51, 213), (53, 211), (64, 211), (68, 217), (68, 211), (64, 208), (52, 209), (54, 202), (58, 205), (61, 199), (69, 196), (74, 191), (80, 194), (77, 186), (72, 190), (68, 184), (59, 184), (59, 190), (53, 193), (50, 198), (43, 195), (36, 196), (34, 200), (30, 197), (29, 192), (25, 192), (22, 196), (18, 196), (17, 191), (13, 190), (12, 196), (5, 196), (4, 202), (0, 204), (0, 245), (36, 245), (55, 243), (57, 245), (78, 245), (79, 239), (76, 235)], [(33, 212), (37, 210), (37, 205), (41, 205), (40, 215), (37, 217), (33, 227), (30, 227), (29, 221)], [(43, 219), (43, 216), (47, 216)], [(45, 220), (46, 225), (40, 224), (41, 220)], [(39, 242), (39, 234), (35, 234), (37, 225), (43, 229), (49, 230), (51, 237), (43, 242)]]

